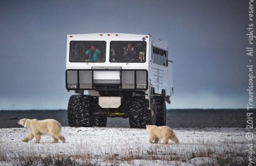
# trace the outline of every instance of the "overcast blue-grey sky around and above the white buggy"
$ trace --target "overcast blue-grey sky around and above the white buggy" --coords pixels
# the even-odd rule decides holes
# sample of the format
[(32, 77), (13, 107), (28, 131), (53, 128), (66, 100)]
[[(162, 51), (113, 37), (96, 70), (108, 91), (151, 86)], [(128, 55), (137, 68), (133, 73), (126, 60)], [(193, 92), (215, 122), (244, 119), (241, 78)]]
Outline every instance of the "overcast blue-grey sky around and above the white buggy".
[(66, 109), (66, 35), (148, 34), (174, 61), (168, 108), (245, 108), (248, 1), (0, 0), (0, 110)]

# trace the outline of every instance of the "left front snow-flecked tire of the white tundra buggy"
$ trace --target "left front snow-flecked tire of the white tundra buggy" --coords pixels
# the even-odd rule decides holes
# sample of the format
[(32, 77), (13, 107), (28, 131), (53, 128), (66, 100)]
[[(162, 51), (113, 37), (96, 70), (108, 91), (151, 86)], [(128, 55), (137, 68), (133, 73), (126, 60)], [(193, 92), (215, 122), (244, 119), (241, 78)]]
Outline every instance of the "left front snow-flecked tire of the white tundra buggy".
[(68, 125), (91, 127), (94, 122), (94, 102), (90, 95), (71, 95), (68, 101)]

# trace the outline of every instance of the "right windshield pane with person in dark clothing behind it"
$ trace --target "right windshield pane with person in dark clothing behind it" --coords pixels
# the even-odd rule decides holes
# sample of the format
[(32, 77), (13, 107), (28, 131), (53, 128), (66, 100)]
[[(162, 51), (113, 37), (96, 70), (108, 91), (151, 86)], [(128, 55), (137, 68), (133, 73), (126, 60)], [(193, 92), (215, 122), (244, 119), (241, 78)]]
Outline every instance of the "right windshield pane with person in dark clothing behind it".
[(146, 61), (147, 42), (112, 41), (110, 42), (110, 62), (144, 63)]

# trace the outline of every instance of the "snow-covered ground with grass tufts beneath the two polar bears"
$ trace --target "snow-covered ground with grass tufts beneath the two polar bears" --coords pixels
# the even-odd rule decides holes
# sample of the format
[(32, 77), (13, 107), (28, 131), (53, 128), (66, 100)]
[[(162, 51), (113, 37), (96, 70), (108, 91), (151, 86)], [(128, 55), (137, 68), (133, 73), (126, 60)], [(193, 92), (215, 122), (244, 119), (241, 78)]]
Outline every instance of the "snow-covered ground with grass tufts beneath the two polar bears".
[(51, 136), (42, 136), (41, 142), (35, 144), (34, 140), (21, 141), (28, 133), (25, 128), (0, 129), (0, 165), (22, 165), (28, 158), (34, 165), (44, 165), (42, 158), (49, 156), (58, 160), (68, 158), (76, 165), (217, 165), (234, 160), (243, 162), (247, 144), (252, 143), (246, 140), (246, 129), (242, 128), (174, 132), (179, 145), (171, 141), (168, 145), (161, 141), (151, 144), (146, 129), (63, 127), (66, 143), (53, 144)]

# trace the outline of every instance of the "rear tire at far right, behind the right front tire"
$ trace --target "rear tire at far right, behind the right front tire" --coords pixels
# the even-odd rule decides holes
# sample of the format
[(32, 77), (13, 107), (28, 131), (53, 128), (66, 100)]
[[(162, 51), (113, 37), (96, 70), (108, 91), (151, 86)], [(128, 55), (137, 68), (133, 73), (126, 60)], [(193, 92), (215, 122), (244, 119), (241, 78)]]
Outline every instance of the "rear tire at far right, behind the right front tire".
[(165, 126), (166, 125), (166, 103), (163, 96), (154, 97), (156, 101), (156, 125)]

